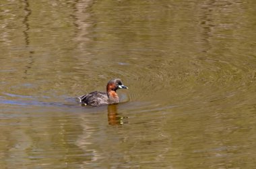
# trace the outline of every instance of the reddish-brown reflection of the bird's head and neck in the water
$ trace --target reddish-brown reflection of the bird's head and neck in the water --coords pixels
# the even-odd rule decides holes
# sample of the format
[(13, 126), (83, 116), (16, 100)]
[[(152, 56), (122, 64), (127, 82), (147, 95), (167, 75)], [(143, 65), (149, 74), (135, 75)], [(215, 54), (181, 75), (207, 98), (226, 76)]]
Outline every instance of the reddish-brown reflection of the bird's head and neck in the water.
[(117, 113), (117, 104), (108, 105), (108, 124), (109, 125), (123, 125), (128, 122), (128, 117)]

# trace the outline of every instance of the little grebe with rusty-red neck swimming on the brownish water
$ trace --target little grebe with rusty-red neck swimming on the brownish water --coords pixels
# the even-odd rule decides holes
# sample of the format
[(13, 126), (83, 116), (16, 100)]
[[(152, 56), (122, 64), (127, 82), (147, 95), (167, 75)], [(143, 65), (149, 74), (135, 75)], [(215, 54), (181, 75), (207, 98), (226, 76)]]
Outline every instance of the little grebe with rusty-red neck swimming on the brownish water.
[(128, 89), (128, 87), (125, 87), (119, 78), (115, 78), (109, 80), (108, 84), (106, 84), (106, 93), (94, 91), (87, 95), (82, 95), (78, 99), (83, 105), (96, 107), (119, 103), (119, 97), (116, 93), (117, 89)]

